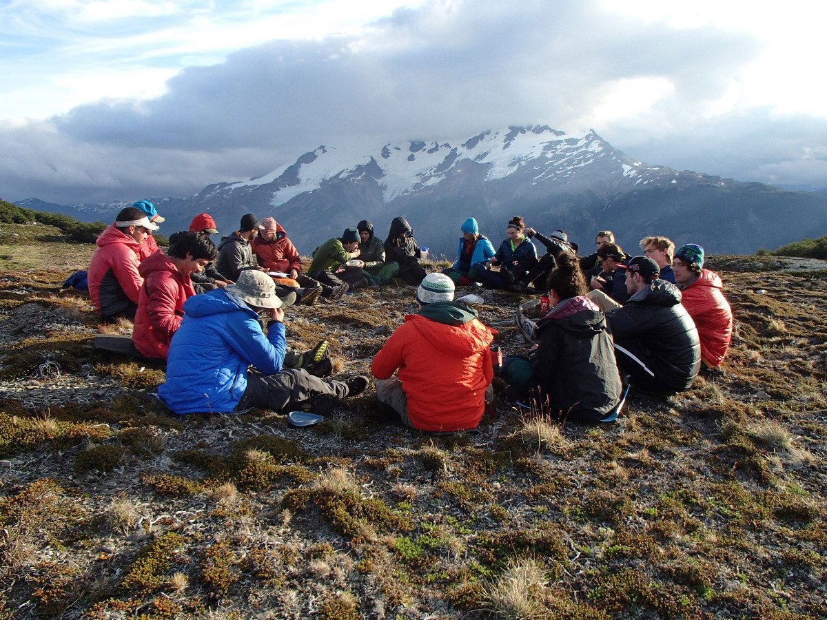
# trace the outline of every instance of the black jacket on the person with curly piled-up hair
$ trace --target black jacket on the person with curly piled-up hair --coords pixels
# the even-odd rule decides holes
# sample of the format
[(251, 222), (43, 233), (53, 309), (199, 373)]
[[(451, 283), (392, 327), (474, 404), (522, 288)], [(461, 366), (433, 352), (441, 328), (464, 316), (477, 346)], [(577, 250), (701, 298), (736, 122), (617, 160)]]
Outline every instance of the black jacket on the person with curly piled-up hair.
[(588, 298), (568, 298), (538, 321), (537, 334), (529, 360), (550, 413), (581, 422), (606, 417), (622, 386), (603, 312)]

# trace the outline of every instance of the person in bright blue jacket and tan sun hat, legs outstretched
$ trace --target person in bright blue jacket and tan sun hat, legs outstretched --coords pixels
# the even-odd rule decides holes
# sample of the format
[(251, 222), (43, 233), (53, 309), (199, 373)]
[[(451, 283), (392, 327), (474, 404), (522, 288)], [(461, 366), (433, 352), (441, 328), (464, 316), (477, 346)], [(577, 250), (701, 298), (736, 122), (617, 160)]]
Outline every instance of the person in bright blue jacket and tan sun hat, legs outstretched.
[[(273, 279), (253, 269), (226, 289), (187, 299), (170, 342), (160, 399), (178, 414), (232, 413), (283, 409), (317, 394), (361, 393), (366, 377), (323, 380), (303, 369), (282, 369), (287, 343), (281, 306)], [(266, 334), (257, 311), (266, 312)]]

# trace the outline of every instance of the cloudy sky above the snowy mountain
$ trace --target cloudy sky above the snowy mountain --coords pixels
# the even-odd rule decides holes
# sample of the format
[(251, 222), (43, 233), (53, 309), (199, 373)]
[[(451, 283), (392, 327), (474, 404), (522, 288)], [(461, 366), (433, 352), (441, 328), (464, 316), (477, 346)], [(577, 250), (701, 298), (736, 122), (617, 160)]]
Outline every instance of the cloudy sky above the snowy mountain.
[(0, 198), (183, 198), (318, 145), (534, 124), (825, 188), (825, 22), (799, 0), (0, 0)]

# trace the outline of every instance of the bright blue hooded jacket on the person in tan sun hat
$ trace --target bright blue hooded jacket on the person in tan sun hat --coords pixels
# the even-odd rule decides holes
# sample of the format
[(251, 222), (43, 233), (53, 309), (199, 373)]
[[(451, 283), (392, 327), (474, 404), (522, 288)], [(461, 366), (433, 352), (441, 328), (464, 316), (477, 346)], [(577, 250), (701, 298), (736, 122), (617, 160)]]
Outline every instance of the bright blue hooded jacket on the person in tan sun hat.
[(284, 363), (284, 324), (267, 336), (258, 315), (232, 293), (215, 289), (184, 303), (160, 398), (173, 413), (231, 413), (247, 387), (247, 367), (276, 374)]

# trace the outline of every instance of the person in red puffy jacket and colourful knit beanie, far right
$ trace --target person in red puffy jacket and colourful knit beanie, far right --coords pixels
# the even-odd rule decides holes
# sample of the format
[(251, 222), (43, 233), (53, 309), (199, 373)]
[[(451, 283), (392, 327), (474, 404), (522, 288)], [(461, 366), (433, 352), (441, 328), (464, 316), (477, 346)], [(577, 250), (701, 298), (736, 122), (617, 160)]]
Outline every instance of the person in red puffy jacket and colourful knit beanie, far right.
[(707, 368), (718, 368), (732, 341), (732, 308), (719, 275), (703, 267), (704, 249), (692, 243), (681, 246), (672, 260), (681, 303), (698, 328), (700, 360)]

